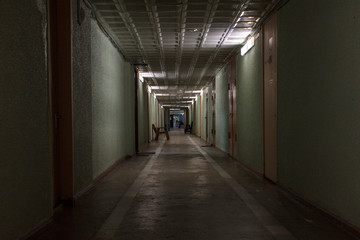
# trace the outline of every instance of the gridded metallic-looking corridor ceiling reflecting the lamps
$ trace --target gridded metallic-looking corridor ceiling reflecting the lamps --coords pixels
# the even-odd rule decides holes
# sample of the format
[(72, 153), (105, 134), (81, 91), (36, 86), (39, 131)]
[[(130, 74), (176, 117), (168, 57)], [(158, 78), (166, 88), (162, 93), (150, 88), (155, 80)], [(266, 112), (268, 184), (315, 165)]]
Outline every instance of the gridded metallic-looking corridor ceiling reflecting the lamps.
[(93, 12), (159, 102), (188, 105), (276, 0), (92, 0)]

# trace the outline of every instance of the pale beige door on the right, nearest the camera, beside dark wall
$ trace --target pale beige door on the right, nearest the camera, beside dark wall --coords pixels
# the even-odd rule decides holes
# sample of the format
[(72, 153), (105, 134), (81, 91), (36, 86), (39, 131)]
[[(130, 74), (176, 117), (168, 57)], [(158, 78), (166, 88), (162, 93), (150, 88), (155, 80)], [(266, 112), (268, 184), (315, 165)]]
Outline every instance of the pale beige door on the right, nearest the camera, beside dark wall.
[(277, 15), (264, 24), (264, 175), (277, 182)]

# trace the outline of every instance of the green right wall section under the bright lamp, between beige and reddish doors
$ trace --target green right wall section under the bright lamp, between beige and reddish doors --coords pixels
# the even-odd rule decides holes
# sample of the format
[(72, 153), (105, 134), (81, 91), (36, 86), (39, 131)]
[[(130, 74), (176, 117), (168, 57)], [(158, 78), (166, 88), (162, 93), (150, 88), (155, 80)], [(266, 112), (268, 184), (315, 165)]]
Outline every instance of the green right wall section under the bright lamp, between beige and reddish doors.
[(263, 173), (262, 36), (236, 57), (237, 159)]

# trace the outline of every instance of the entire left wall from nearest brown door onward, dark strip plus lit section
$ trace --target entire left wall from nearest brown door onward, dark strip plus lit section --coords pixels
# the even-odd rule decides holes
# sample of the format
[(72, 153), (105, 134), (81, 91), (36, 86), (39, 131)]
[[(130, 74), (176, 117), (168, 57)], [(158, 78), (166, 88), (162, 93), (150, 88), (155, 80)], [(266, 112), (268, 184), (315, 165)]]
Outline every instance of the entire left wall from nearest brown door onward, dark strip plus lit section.
[[(115, 161), (134, 154), (134, 73), (86, 6), (77, 21), (73, 1), (75, 194)], [(126, 113), (126, 114), (124, 114)]]

